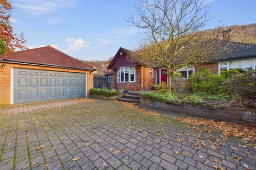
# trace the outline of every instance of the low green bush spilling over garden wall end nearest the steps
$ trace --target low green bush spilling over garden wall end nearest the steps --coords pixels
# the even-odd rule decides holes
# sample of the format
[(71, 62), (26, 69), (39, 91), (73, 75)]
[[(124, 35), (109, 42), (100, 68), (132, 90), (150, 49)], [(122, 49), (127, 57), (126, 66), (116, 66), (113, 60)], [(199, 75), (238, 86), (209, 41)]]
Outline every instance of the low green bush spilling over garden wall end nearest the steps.
[(179, 100), (177, 99), (177, 95), (173, 94), (157, 94), (156, 92), (147, 92), (143, 91), (140, 93), (140, 96), (143, 98), (161, 101), (167, 104), (178, 104)]

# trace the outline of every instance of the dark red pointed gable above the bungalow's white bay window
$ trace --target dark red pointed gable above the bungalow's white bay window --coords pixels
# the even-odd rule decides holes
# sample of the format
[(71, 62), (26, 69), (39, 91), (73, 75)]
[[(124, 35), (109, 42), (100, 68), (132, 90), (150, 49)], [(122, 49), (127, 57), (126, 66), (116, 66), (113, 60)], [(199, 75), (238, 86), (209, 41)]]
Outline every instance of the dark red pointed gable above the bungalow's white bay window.
[(119, 48), (115, 57), (107, 68), (109, 70), (115, 70), (119, 67), (139, 65), (138, 63), (129, 60), (127, 57), (129, 57), (129, 54), (122, 48)]

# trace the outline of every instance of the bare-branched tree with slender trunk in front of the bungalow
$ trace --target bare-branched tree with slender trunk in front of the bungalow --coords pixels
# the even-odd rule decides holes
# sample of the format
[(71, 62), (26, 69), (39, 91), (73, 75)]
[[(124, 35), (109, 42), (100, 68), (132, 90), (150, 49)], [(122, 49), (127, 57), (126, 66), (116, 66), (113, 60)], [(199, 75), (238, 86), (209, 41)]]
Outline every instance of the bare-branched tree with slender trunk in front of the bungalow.
[(166, 67), (169, 92), (179, 69), (212, 61), (220, 53), (242, 45), (223, 39), (223, 27), (211, 34), (202, 31), (212, 19), (203, 0), (142, 0), (135, 9), (136, 19), (131, 16), (126, 21), (146, 30), (147, 37), (134, 49), (131, 60)]

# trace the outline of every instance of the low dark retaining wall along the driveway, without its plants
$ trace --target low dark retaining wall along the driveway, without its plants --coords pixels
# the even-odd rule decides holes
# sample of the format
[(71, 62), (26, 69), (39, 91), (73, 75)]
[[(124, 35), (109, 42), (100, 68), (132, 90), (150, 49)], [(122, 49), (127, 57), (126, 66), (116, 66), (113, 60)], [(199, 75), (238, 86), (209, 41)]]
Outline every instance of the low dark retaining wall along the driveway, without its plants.
[(211, 118), (219, 121), (249, 123), (256, 126), (256, 110), (253, 109), (204, 105), (193, 106), (188, 104), (171, 105), (145, 98), (140, 98), (140, 101), (144, 106), (164, 111)]

